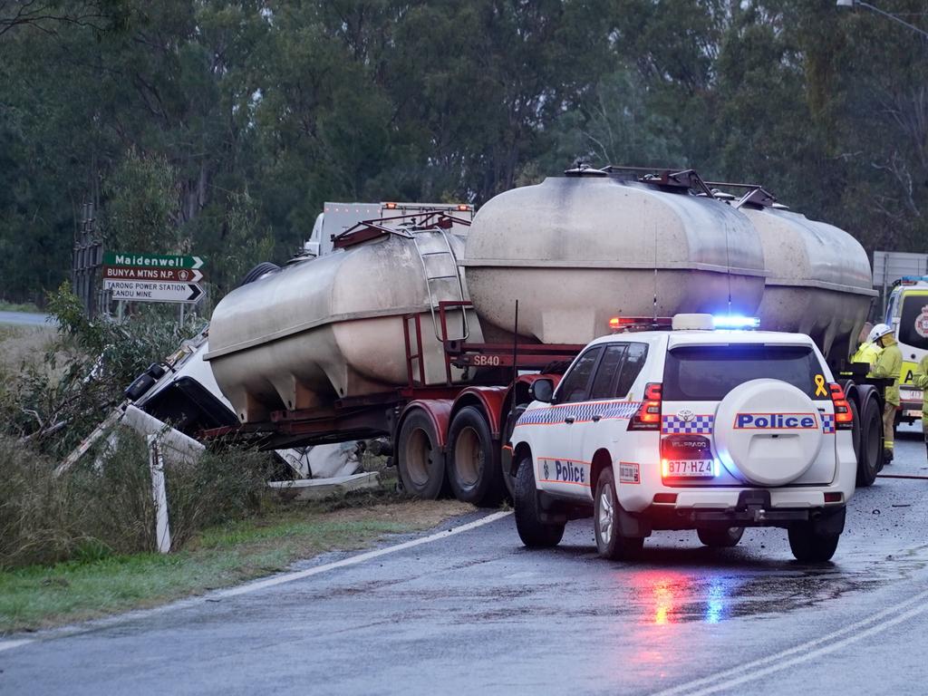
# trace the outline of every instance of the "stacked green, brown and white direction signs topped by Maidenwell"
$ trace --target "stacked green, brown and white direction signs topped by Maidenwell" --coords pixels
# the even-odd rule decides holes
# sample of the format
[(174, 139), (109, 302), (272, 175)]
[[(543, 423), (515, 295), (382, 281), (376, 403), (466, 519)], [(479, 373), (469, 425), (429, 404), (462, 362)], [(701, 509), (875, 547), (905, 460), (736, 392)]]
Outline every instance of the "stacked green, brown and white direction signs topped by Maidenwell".
[(203, 296), (200, 256), (109, 251), (103, 263), (103, 287), (112, 300), (196, 303)]

